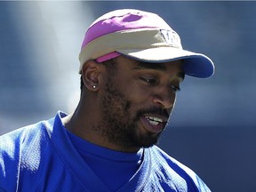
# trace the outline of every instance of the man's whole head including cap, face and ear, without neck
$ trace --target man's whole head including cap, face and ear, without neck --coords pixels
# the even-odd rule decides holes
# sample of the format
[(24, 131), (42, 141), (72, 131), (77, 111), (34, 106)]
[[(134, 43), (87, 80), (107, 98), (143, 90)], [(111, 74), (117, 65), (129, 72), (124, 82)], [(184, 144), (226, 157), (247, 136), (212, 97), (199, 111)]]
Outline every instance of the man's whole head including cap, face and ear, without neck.
[(138, 10), (94, 21), (79, 60), (81, 80), (93, 97), (86, 106), (98, 108), (93, 132), (123, 149), (156, 144), (185, 74), (204, 78), (214, 72), (212, 60), (182, 49), (180, 36), (163, 19)]

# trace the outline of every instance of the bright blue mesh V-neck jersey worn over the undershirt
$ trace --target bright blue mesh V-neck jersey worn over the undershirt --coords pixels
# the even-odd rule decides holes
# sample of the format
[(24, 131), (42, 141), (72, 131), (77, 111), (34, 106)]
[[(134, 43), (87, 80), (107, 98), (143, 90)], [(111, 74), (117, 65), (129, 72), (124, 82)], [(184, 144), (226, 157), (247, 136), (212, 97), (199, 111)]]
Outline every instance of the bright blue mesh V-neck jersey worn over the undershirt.
[[(115, 176), (118, 172), (106, 180), (107, 168), (97, 170), (95, 164), (84, 161), (61, 122), (64, 116), (58, 112), (52, 119), (0, 137), (0, 191), (111, 192), (116, 188), (113, 183), (119, 180)], [(156, 146), (144, 148), (135, 169), (129, 180), (124, 176), (126, 181), (116, 191), (210, 191), (195, 172)]]

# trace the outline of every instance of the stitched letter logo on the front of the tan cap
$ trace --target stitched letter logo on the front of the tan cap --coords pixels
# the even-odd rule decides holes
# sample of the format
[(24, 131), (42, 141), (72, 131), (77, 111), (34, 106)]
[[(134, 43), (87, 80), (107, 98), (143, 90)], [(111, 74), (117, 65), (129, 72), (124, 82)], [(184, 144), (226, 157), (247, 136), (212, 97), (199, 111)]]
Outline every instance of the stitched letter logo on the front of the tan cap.
[(180, 48), (180, 36), (173, 30), (160, 29), (162, 36), (167, 44), (170, 44), (172, 47)]

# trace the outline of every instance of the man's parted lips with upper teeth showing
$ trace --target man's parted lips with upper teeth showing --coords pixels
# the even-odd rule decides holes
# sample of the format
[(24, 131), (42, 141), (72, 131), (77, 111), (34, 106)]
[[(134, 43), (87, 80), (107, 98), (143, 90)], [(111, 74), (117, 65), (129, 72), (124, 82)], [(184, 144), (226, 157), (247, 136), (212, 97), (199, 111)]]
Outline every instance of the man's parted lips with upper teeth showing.
[(168, 118), (165, 116), (157, 115), (143, 115), (140, 117), (140, 121), (143, 127), (148, 132), (159, 133), (162, 132)]

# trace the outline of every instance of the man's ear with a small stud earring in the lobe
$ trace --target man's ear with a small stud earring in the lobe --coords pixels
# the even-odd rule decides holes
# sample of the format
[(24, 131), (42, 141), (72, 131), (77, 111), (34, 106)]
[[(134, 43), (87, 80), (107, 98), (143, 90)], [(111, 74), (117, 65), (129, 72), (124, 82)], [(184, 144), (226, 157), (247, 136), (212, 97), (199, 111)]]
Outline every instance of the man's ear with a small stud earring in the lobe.
[(94, 60), (88, 60), (82, 68), (82, 79), (84, 86), (92, 91), (99, 90), (100, 64)]

